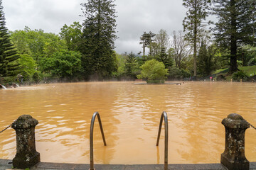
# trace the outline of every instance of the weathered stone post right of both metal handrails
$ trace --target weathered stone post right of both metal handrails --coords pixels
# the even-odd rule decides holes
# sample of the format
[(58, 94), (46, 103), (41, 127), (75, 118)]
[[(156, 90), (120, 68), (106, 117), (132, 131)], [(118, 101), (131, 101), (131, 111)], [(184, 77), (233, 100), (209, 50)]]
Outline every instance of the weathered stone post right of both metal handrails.
[(225, 126), (225, 151), (221, 154), (220, 163), (229, 170), (247, 170), (250, 162), (245, 158), (245, 130), (249, 123), (241, 115), (230, 114), (223, 119)]

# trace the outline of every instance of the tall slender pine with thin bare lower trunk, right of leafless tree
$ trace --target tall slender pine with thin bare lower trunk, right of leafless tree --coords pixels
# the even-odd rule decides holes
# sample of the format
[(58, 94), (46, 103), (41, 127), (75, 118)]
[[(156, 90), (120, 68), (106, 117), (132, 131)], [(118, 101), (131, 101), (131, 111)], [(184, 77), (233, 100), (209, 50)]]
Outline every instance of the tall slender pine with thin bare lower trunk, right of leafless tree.
[(203, 21), (208, 16), (208, 5), (210, 0), (183, 0), (183, 6), (188, 8), (186, 17), (183, 20), (184, 31), (187, 30), (186, 38), (193, 44), (193, 70), (196, 77), (196, 55), (197, 43), (202, 33), (205, 31), (206, 24)]

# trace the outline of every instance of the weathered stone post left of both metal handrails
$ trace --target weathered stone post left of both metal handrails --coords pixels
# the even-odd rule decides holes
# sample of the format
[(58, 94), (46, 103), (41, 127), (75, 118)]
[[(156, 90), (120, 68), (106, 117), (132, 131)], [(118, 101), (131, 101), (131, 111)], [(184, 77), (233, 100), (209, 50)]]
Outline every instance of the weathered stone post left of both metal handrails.
[(11, 125), (16, 131), (16, 156), (14, 168), (26, 169), (40, 162), (40, 154), (36, 152), (35, 127), (38, 120), (31, 115), (21, 115)]

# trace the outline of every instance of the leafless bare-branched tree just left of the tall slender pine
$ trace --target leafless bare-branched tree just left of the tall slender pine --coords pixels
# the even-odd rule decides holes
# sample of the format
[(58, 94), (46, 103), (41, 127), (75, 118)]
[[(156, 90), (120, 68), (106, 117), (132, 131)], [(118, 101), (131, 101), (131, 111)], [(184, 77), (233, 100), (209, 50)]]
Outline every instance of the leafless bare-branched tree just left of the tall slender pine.
[(181, 30), (176, 33), (173, 32), (173, 41), (171, 43), (171, 47), (174, 49), (174, 60), (176, 67), (181, 69), (182, 62), (188, 57), (191, 52), (188, 40), (186, 40), (185, 36), (182, 34)]

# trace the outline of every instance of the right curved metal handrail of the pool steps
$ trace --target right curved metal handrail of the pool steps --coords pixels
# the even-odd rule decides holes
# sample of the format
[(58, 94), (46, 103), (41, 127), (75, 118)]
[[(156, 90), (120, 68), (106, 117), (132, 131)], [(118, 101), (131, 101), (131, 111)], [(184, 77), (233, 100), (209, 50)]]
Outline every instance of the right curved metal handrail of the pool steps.
[(164, 134), (164, 170), (168, 170), (168, 119), (167, 119), (167, 113), (165, 111), (161, 114), (156, 146), (159, 145), (163, 118), (164, 118), (164, 132), (165, 132)]

